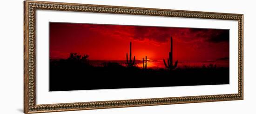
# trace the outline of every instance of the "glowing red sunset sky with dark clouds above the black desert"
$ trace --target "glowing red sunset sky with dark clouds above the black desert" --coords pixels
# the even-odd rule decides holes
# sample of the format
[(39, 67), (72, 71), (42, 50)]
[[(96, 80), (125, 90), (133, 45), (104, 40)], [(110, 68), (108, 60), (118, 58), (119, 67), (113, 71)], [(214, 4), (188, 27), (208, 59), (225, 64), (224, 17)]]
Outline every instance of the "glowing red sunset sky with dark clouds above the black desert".
[(90, 60), (125, 60), (132, 41), (136, 60), (168, 58), (173, 37), (173, 58), (179, 61), (211, 61), (229, 58), (229, 30), (180, 27), (148, 27), (50, 22), (50, 58), (69, 53), (88, 54)]

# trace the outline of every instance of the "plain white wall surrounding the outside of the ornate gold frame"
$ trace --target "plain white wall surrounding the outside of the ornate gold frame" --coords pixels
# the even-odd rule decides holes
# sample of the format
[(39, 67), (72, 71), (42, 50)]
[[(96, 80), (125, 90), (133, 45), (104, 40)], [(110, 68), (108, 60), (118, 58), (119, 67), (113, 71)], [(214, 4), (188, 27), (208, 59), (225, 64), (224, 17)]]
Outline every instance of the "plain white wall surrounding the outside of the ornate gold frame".
[[(47, 0), (49, 1), (49, 0)], [(256, 114), (256, 16), (253, 0), (51, 0), (128, 7), (151, 7), (244, 14), (244, 100), (149, 107), (112, 108), (53, 114)], [(210, 91), (210, 90), (209, 90)], [(0, 7), (0, 114), (23, 112), (23, 0)], [(50, 113), (48, 113), (50, 114)]]

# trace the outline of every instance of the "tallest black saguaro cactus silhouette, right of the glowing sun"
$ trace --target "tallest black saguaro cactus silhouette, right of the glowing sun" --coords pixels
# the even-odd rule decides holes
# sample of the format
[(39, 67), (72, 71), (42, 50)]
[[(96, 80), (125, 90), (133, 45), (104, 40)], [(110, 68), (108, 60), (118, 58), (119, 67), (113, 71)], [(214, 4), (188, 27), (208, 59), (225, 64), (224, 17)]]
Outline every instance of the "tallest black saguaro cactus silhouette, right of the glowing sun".
[(165, 60), (163, 59), (163, 63), (164, 63), (164, 66), (167, 68), (167, 69), (175, 69), (178, 65), (178, 60), (175, 61), (175, 64), (173, 65), (173, 46), (172, 46), (172, 37), (171, 37), (171, 51), (169, 52), (169, 58), (167, 59), (167, 62), (168, 64), (166, 64)]

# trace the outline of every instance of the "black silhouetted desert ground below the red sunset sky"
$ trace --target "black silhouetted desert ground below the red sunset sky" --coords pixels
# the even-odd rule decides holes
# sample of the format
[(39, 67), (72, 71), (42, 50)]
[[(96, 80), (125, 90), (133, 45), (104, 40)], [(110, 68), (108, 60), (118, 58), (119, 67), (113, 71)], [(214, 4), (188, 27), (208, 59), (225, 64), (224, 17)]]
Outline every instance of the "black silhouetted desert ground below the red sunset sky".
[(88, 60), (50, 60), (50, 91), (229, 84), (228, 67), (141, 69)]

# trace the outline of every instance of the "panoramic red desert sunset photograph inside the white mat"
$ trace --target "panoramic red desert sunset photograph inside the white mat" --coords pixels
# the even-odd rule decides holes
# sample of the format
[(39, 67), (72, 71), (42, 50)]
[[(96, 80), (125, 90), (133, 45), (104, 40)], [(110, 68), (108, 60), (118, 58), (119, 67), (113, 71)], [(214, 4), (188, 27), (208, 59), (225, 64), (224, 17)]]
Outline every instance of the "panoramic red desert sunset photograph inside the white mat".
[(49, 91), (229, 84), (229, 29), (49, 22)]

